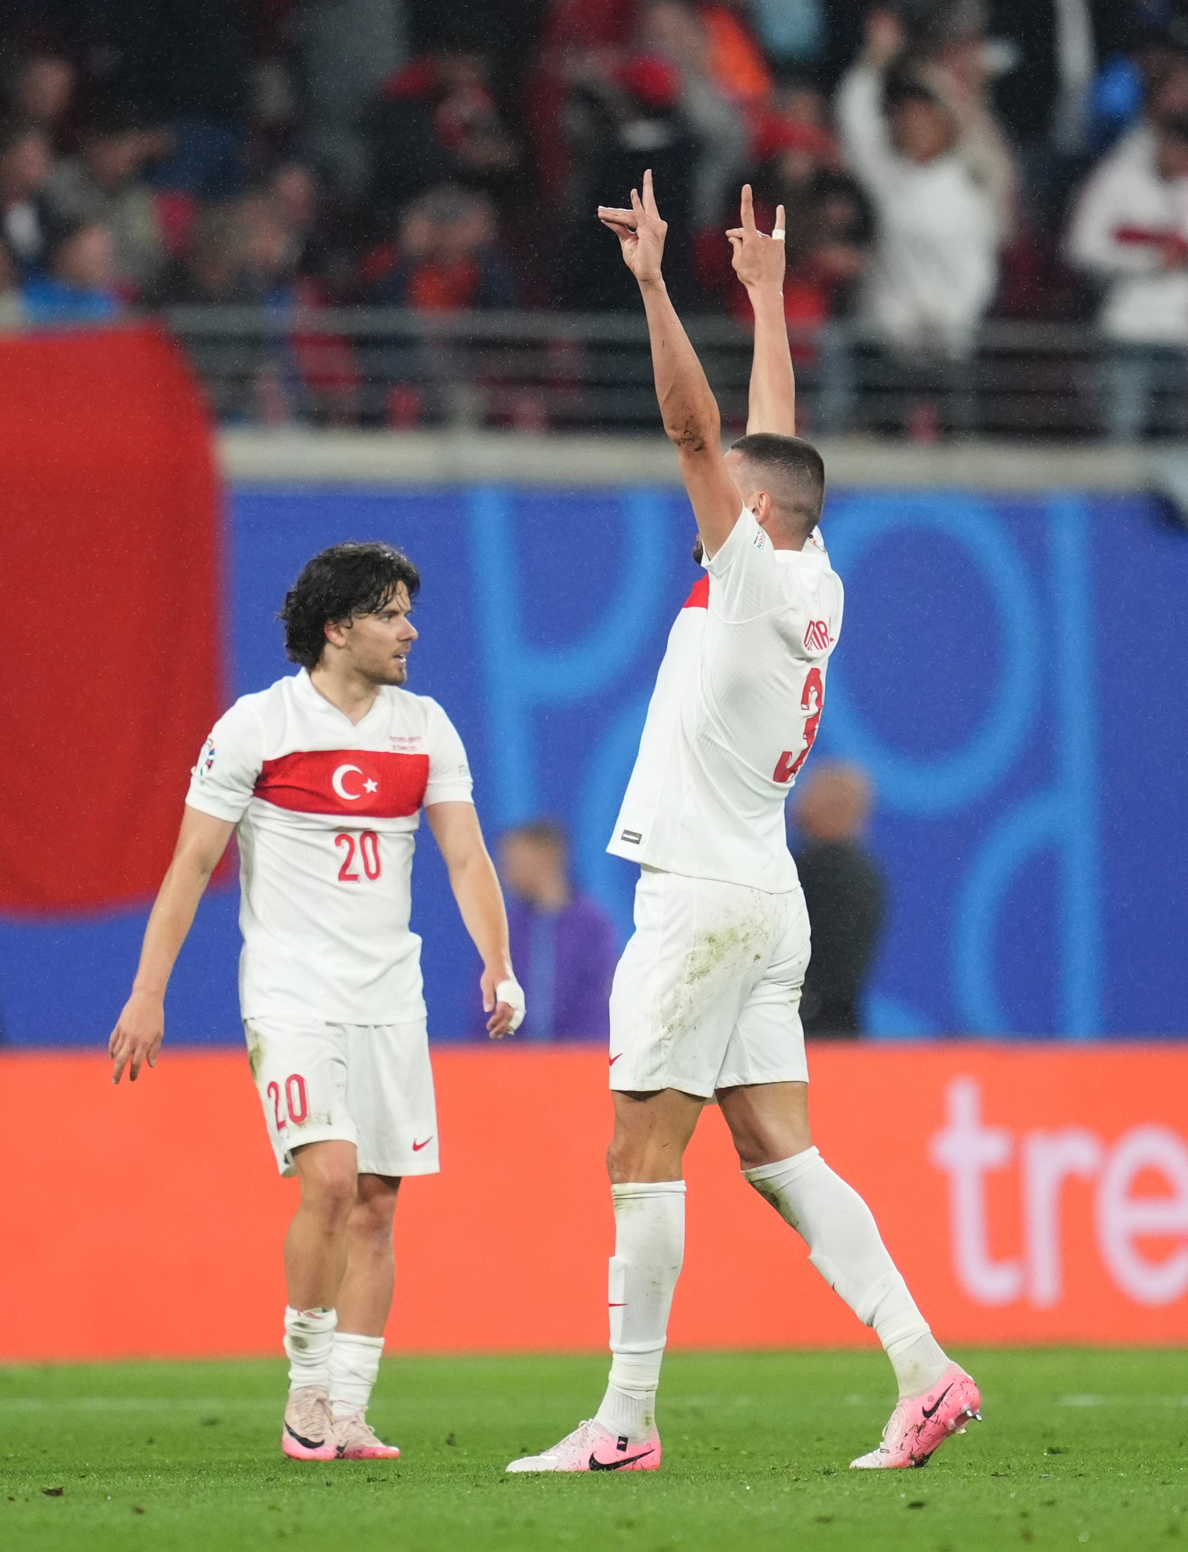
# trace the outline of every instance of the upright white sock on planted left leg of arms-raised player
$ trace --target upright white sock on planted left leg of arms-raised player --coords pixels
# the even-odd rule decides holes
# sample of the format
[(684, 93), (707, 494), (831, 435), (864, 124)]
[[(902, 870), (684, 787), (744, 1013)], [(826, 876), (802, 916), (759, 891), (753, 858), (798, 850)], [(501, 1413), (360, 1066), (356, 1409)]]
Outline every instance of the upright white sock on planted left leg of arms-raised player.
[(668, 1311), (685, 1259), (685, 1181), (612, 1186), (610, 1384), (596, 1419), (612, 1434), (643, 1439), (655, 1422)]

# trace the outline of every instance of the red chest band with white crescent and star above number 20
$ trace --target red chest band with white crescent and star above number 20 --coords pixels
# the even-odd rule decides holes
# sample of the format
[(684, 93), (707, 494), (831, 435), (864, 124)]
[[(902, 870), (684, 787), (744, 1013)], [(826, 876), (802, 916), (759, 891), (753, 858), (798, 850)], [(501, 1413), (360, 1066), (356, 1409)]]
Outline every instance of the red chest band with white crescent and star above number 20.
[(264, 760), (255, 795), (295, 813), (401, 819), (416, 813), (427, 785), (427, 754), (312, 750)]

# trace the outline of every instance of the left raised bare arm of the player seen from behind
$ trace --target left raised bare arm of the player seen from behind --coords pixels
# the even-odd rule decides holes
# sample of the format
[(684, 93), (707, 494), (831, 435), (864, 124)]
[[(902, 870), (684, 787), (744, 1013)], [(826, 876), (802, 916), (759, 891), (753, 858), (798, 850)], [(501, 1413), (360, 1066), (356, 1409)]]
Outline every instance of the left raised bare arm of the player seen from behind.
[(717, 402), (665, 287), (660, 264), (668, 225), (655, 205), (652, 174), (643, 175), (643, 197), (630, 191), (630, 210), (599, 205), (598, 219), (618, 237), (623, 262), (640, 286), (665, 431), (677, 450), (702, 545), (714, 556), (738, 521), (742, 498), (722, 458)]

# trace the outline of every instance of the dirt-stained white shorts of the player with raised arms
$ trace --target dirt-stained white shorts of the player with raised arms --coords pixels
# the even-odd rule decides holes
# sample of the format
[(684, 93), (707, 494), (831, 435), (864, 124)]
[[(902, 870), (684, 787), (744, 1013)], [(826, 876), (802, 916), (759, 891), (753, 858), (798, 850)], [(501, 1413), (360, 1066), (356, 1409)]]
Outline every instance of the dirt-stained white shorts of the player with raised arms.
[(710, 1099), (741, 1083), (806, 1082), (808, 964), (800, 888), (766, 894), (644, 868), (610, 990), (610, 1086)]

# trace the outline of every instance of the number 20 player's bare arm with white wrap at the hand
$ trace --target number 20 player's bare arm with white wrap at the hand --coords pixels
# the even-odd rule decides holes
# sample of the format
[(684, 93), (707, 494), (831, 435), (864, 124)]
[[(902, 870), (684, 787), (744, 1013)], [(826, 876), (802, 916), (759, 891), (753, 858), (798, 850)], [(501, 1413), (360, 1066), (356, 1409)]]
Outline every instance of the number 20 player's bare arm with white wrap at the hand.
[[(503, 891), (483, 841), (478, 815), (469, 802), (433, 802), (426, 809), (426, 819), (446, 860), (458, 913), (483, 961), (480, 984), (483, 1012), (491, 1013), (488, 1034), (492, 1040), (502, 1040), (519, 1027), (523, 998), (511, 968)], [(519, 1006), (498, 999), (497, 993), (505, 982), (516, 987)]]

